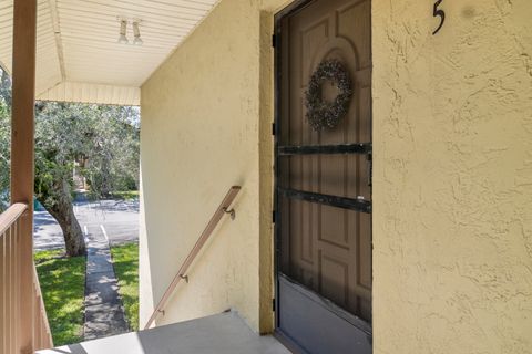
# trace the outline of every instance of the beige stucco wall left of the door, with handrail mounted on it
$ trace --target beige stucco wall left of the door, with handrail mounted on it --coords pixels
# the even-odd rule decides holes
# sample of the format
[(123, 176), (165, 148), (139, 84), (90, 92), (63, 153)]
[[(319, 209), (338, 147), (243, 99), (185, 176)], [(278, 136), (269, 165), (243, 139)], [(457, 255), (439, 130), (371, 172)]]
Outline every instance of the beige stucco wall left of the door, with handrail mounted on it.
[(141, 323), (242, 185), (236, 220), (223, 221), (157, 323), (234, 308), (272, 330), (270, 40), (286, 2), (222, 1), (142, 87)]

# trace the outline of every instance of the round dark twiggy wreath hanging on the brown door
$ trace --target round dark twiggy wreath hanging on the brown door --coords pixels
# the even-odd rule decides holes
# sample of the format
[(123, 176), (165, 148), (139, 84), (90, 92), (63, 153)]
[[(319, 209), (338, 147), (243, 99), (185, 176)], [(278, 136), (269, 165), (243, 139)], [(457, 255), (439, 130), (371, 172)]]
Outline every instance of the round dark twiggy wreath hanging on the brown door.
[[(339, 94), (332, 102), (325, 101), (321, 95), (324, 81), (331, 81), (338, 87)], [(351, 102), (351, 77), (344, 64), (336, 60), (324, 60), (313, 73), (305, 93), (307, 121), (319, 132), (324, 128), (336, 127), (349, 110)]]

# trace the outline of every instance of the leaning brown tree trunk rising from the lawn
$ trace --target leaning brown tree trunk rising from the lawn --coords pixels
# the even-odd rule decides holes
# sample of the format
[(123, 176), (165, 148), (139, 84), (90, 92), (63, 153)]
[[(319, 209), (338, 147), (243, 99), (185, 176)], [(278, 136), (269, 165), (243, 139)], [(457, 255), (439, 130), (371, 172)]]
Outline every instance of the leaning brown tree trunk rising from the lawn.
[(69, 183), (63, 180), (58, 191), (58, 198), (53, 206), (47, 206), (41, 201), (44, 208), (55, 218), (63, 231), (66, 254), (70, 257), (85, 254), (85, 241), (81, 231), (80, 222), (74, 215), (72, 197), (70, 195)]

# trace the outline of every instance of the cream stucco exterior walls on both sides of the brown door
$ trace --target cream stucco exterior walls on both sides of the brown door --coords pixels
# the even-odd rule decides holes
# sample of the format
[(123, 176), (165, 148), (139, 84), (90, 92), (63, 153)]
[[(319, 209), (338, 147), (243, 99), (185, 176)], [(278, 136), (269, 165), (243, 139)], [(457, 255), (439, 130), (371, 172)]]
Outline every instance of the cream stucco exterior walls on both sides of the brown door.
[[(223, 0), (142, 87), (141, 323), (272, 329), (273, 13)], [(532, 353), (532, 2), (372, 0), (374, 352)], [(149, 236), (149, 238), (147, 238)]]

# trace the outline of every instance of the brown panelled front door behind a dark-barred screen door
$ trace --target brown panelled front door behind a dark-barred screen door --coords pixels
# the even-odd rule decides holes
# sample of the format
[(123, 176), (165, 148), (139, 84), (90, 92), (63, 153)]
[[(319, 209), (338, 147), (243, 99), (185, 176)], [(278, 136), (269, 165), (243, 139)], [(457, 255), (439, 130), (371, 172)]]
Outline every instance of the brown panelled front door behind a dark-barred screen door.
[[(371, 353), (370, 9), (314, 0), (276, 18), (277, 331), (308, 353)], [(346, 114), (327, 125), (316, 110), (313, 126), (309, 82), (325, 63), (344, 70), (329, 65), (318, 100), (346, 92), (341, 73), (351, 94)]]

